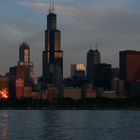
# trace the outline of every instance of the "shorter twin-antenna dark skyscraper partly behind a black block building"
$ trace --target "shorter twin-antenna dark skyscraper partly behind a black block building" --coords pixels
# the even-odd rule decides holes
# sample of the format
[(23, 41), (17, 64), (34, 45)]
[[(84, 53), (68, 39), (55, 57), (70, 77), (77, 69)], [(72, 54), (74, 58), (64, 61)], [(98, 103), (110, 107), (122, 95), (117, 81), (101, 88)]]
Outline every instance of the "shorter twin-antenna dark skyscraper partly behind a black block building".
[(95, 50), (90, 49), (89, 52), (87, 53), (87, 80), (89, 82), (94, 81), (94, 65), (100, 64), (100, 62), (101, 62), (100, 52), (98, 51), (96, 44), (96, 49)]

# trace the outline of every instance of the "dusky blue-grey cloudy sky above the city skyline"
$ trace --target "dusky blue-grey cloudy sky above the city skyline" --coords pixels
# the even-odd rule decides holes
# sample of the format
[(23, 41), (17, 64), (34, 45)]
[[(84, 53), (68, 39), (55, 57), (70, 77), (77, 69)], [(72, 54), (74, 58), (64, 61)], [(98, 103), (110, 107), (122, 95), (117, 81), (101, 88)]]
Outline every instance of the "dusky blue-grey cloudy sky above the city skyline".
[[(140, 50), (140, 0), (55, 0), (64, 76), (70, 65), (86, 64), (92, 44), (101, 62), (119, 67), (119, 51)], [(42, 51), (49, 0), (0, 0), (0, 74), (17, 65), (19, 46), (27, 42), (35, 76), (42, 74)]]

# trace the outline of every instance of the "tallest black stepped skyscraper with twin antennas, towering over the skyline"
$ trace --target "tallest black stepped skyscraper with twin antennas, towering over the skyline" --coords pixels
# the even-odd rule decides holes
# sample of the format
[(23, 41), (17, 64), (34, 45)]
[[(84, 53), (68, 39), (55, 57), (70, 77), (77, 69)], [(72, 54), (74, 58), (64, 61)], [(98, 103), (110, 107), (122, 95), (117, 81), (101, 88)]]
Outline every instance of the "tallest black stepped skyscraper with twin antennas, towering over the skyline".
[(47, 15), (47, 30), (45, 30), (45, 50), (43, 51), (43, 79), (46, 83), (55, 81), (56, 68), (63, 77), (63, 51), (61, 50), (61, 32), (57, 30), (57, 15), (54, 13), (54, 3), (50, 2)]

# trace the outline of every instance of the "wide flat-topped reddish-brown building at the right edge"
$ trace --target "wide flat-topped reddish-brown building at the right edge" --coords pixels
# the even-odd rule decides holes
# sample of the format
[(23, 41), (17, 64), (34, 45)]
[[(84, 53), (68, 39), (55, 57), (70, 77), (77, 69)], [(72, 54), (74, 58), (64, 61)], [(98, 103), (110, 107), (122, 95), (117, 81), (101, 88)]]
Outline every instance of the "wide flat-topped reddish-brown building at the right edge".
[(125, 50), (119, 53), (120, 79), (128, 91), (129, 83), (140, 79), (140, 51)]

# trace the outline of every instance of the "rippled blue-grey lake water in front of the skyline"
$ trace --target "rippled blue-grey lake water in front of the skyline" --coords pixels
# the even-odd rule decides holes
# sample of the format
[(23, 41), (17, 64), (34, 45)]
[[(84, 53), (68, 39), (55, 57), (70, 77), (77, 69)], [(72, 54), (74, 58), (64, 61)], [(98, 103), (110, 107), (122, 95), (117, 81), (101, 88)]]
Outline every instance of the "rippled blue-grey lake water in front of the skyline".
[(140, 140), (140, 111), (2, 110), (0, 140)]

